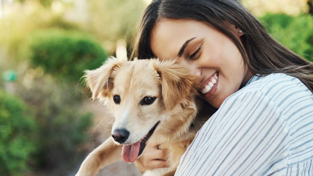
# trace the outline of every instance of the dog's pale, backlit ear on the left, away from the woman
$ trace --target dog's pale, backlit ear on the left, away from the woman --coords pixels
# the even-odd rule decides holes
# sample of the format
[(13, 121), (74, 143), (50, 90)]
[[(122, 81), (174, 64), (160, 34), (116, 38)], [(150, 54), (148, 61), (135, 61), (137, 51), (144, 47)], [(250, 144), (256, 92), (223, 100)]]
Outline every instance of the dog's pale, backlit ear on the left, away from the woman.
[(105, 63), (95, 70), (85, 71), (85, 80), (90, 88), (92, 98), (97, 99), (100, 96), (107, 97), (113, 89), (115, 71), (117, 71), (127, 60), (110, 57)]

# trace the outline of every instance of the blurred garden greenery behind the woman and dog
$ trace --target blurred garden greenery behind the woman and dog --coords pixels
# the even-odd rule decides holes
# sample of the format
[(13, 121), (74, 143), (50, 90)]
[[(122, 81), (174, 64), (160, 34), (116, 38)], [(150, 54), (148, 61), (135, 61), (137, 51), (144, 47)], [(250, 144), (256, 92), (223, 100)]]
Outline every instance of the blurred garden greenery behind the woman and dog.
[[(87, 131), (99, 114), (87, 107), (83, 71), (99, 67), (118, 39), (130, 46), (149, 0), (1, 2), (0, 175), (73, 175), (93, 148)], [(242, 2), (313, 61), (312, 0)]]

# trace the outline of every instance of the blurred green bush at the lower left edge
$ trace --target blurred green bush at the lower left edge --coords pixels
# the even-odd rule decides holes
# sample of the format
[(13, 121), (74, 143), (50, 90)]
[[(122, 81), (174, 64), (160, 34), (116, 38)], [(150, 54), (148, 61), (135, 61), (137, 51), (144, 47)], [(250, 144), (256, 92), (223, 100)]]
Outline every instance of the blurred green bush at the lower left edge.
[(0, 91), (0, 173), (22, 175), (37, 146), (37, 124), (19, 98)]

